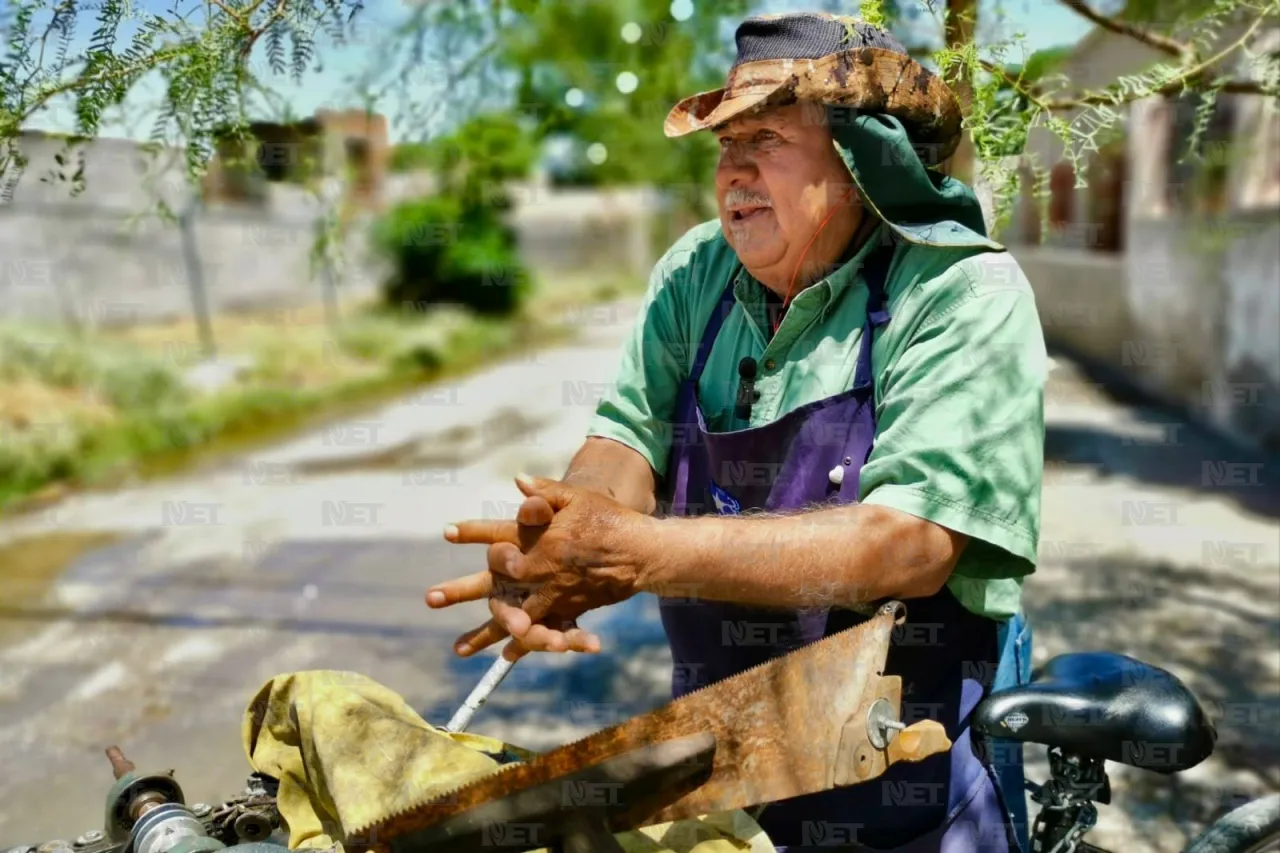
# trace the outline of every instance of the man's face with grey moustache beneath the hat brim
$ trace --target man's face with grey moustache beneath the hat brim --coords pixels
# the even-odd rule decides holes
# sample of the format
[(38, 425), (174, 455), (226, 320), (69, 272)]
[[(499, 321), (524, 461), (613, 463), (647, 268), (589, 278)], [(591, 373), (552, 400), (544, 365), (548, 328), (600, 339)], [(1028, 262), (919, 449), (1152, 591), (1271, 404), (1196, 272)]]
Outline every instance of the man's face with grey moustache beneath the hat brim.
[(860, 214), (856, 193), (849, 195), (852, 182), (832, 145), (826, 111), (792, 104), (733, 119), (716, 134), (721, 142), (716, 168), (721, 225), (748, 272), (771, 289), (785, 292), (801, 255), (805, 266), (797, 287), (806, 270), (838, 259)]

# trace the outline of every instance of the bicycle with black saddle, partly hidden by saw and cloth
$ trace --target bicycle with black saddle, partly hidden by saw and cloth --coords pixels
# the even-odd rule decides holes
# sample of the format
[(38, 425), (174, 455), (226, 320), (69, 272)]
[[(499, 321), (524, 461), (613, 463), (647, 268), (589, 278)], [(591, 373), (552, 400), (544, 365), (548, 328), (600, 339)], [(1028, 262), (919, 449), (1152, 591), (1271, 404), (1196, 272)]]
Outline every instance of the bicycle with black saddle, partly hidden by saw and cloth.
[[(974, 710), (973, 731), (977, 749), (1001, 740), (1050, 749), (1050, 780), (1027, 785), (1030, 799), (1041, 806), (1027, 853), (1110, 853), (1084, 840), (1097, 821), (1094, 803), (1111, 799), (1106, 762), (1178, 774), (1208, 758), (1217, 738), (1194, 694), (1172, 674), (1110, 652), (1057, 656), (1027, 684), (991, 693)], [(0, 853), (165, 853), (170, 848), (172, 853), (288, 853), (280, 835), (278, 780), (255, 772), (241, 795), (216, 807), (197, 803), (188, 808), (172, 771), (137, 774), (118, 749), (108, 749), (108, 756), (116, 783), (106, 797), (104, 830), (86, 833), (74, 843), (46, 841)], [(644, 772), (636, 772), (630, 760), (623, 754), (595, 767), (604, 772), (613, 766), (618, 779), (636, 789), (653, 788), (673, 768), (649, 762)], [(552, 793), (543, 798), (541, 818), (572, 822), (590, 811), (568, 804), (558, 789)], [(613, 844), (612, 835), (575, 830), (550, 847), (559, 853), (600, 853)], [(460, 848), (431, 844), (422, 849), (456, 853)], [(1280, 794), (1236, 807), (1183, 853), (1280, 853)]]

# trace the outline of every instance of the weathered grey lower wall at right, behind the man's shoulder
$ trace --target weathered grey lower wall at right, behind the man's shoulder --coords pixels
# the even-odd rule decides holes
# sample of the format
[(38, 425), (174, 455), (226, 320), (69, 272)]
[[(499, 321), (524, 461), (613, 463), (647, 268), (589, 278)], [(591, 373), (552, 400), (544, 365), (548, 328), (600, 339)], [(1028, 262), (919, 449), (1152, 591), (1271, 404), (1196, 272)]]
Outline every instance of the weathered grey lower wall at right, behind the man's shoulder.
[(1124, 255), (1012, 248), (1046, 338), (1280, 450), (1280, 211), (1133, 222), (1129, 241)]

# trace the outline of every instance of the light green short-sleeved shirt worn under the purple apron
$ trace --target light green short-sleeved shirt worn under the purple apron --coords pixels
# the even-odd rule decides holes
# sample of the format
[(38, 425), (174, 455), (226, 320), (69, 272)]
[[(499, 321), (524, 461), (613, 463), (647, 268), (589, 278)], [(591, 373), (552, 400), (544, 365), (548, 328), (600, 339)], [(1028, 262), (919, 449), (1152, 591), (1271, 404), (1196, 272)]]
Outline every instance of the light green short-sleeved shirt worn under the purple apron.
[[(677, 391), (731, 277), (736, 305), (698, 388), (710, 429), (760, 426), (847, 391), (867, 314), (860, 268), (879, 242), (873, 234), (799, 293), (771, 339), (765, 288), (739, 264), (719, 222), (692, 228), (653, 270), (590, 434), (666, 470)], [(948, 587), (977, 613), (1010, 616), (1036, 565), (1044, 460), (1048, 360), (1030, 286), (1007, 252), (900, 242), (887, 293), (892, 319), (872, 352), (876, 443), (859, 500), (969, 535)], [(749, 423), (732, 411), (745, 356), (760, 365)]]

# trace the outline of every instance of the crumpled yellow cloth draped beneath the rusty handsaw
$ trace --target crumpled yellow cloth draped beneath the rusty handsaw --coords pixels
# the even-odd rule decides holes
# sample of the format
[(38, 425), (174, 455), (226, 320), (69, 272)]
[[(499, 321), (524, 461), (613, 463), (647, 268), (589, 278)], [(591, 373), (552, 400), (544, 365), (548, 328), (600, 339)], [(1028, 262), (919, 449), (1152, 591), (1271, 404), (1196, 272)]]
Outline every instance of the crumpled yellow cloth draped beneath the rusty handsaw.
[[(534, 754), (438, 729), (372, 679), (333, 670), (271, 679), (241, 731), (253, 770), (280, 781), (276, 803), (294, 850), (340, 849), (349, 834), (388, 815), (484, 776), (504, 758)], [(777, 853), (742, 811), (616, 838), (627, 853)]]

